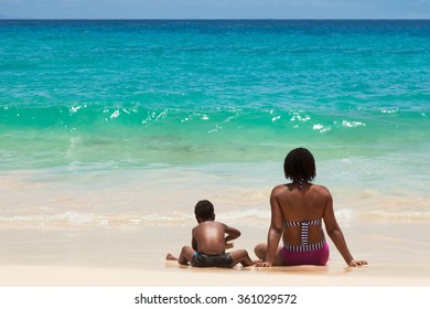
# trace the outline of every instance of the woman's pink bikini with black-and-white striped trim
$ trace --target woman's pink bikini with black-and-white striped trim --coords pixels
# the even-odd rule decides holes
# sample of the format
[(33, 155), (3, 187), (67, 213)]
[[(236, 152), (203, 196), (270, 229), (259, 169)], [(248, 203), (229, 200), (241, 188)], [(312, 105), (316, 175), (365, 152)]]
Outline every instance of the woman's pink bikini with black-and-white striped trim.
[(329, 260), (329, 244), (323, 238), (319, 243), (309, 244), (308, 234), (309, 225), (321, 225), (321, 219), (312, 221), (286, 221), (283, 226), (301, 226), (301, 245), (293, 246), (283, 244), (283, 247), (279, 252), (284, 265), (319, 265), (324, 266)]

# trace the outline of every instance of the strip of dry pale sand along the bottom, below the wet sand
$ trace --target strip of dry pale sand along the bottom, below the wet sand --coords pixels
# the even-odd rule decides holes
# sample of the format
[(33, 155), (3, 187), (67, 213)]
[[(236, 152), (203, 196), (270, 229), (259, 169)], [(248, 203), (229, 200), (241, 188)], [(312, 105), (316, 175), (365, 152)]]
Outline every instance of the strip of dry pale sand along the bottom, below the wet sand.
[(1, 286), (9, 287), (428, 287), (428, 278), (369, 276), (369, 268), (331, 274), (323, 267), (281, 269), (192, 269), (173, 262), (165, 269), (120, 269), (74, 266), (0, 266)]

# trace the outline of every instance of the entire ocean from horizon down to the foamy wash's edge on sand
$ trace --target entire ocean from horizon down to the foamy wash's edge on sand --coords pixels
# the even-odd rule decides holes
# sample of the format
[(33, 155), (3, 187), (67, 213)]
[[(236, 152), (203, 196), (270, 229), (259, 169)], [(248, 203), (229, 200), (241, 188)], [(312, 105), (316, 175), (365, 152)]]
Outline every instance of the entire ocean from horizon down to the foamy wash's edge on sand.
[(266, 231), (295, 147), (342, 226), (428, 225), (429, 39), (428, 20), (0, 20), (0, 230), (187, 230), (209, 199)]

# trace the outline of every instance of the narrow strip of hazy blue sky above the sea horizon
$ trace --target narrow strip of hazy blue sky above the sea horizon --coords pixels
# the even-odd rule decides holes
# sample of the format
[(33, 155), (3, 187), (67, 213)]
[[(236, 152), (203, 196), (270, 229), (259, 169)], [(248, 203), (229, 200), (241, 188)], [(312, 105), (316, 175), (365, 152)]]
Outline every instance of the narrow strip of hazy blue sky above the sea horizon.
[(430, 19), (430, 0), (0, 0), (0, 18)]

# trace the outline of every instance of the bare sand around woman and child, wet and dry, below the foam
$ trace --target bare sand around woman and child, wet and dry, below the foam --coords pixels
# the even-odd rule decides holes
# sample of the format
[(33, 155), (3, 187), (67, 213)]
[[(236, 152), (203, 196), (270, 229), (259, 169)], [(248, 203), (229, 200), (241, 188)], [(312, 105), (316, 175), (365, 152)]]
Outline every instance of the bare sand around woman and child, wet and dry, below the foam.
[[(265, 241), (267, 227), (239, 228), (247, 236), (236, 239), (235, 248), (256, 258), (254, 245)], [(178, 255), (187, 244), (185, 226), (1, 230), (0, 287), (429, 287), (428, 228), (426, 223), (345, 225), (350, 249), (368, 266), (346, 267), (329, 241), (325, 267), (269, 269), (198, 269), (165, 260), (168, 252)]]

